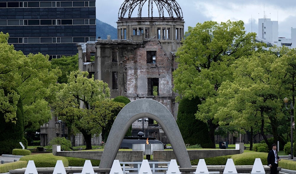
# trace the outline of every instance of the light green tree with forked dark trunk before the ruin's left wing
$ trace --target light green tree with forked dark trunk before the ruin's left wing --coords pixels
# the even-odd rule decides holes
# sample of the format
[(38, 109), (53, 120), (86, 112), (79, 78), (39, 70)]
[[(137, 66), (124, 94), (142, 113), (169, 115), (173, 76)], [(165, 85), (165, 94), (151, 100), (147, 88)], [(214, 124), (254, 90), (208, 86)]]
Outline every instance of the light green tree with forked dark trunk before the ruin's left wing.
[(87, 78), (88, 72), (73, 71), (68, 83), (63, 83), (52, 104), (54, 115), (63, 120), (74, 133), (80, 131), (86, 141), (86, 149), (91, 149), (92, 135), (101, 133), (101, 128), (92, 124), (92, 109), (95, 102), (110, 97), (108, 84), (101, 80)]

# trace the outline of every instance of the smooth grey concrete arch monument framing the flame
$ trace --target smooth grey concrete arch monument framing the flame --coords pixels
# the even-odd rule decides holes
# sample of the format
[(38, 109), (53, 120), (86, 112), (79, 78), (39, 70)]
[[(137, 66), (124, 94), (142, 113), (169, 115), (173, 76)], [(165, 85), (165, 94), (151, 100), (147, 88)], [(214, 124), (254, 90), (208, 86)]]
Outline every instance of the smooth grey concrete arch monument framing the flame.
[(191, 168), (190, 159), (178, 128), (170, 111), (161, 103), (152, 99), (138, 99), (128, 103), (117, 115), (110, 130), (102, 154), (99, 168), (111, 168), (116, 157), (121, 141), (126, 131), (136, 120), (148, 117), (156, 120), (165, 131), (173, 151), (182, 168)]

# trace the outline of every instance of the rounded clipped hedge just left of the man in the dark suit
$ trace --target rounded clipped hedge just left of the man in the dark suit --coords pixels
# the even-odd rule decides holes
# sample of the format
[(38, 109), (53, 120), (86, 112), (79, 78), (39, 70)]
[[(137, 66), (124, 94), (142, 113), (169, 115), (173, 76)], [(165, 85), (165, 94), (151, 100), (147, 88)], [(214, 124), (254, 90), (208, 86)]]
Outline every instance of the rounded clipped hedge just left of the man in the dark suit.
[(267, 165), (267, 153), (263, 152), (246, 152), (235, 154), (231, 157), (234, 165), (254, 165), (255, 159), (260, 158), (263, 165)]

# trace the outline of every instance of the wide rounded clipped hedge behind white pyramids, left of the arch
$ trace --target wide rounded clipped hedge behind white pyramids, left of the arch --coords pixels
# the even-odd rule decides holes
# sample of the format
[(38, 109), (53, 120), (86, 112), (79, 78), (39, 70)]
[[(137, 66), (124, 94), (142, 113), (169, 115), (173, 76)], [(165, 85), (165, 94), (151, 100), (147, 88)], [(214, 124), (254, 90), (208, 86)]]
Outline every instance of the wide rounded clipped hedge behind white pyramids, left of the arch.
[(36, 167), (55, 167), (57, 160), (62, 160), (64, 167), (69, 166), (67, 158), (62, 156), (54, 156), (53, 154), (35, 154), (26, 155), (20, 158), (20, 161), (33, 160)]

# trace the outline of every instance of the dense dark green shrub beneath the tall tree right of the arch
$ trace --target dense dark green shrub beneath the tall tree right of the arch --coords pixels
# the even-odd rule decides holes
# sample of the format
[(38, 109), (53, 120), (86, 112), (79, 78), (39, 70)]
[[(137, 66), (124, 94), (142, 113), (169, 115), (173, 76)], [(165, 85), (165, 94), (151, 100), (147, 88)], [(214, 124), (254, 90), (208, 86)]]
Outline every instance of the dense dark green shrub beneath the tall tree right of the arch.
[(210, 148), (209, 128), (194, 116), (200, 103), (198, 98), (183, 98), (179, 103), (177, 124), (185, 144), (200, 144), (203, 148)]

